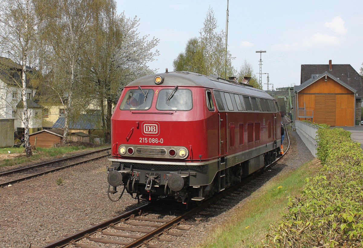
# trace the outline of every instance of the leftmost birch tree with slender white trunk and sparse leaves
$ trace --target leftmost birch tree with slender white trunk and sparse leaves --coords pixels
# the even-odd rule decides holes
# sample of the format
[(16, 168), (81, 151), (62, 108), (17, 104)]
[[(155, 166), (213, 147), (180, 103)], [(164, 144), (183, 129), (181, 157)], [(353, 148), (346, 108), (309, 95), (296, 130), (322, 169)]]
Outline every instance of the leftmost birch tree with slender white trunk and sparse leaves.
[[(1, 54), (20, 65), (19, 80), (14, 75), (8, 79), (21, 90), (24, 112), (21, 121), (24, 124), (26, 156), (32, 155), (29, 142), (29, 119), (27, 91), (29, 87), (28, 72), (37, 65), (37, 51), (42, 22), (37, 13), (42, 11), (42, 4), (32, 0), (3, 0), (0, 4), (0, 50)], [(1, 64), (3, 71), (8, 71), (6, 63)]]

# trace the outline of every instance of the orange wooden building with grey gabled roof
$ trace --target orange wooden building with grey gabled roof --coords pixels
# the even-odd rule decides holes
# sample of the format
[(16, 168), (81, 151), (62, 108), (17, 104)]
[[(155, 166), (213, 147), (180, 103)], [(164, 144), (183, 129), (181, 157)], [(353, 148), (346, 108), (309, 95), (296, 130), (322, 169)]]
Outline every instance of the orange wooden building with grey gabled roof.
[[(357, 90), (339, 78), (328, 72), (313, 74), (295, 86), (294, 91), (295, 120), (331, 126), (355, 125)], [(360, 99), (358, 102), (360, 105)]]

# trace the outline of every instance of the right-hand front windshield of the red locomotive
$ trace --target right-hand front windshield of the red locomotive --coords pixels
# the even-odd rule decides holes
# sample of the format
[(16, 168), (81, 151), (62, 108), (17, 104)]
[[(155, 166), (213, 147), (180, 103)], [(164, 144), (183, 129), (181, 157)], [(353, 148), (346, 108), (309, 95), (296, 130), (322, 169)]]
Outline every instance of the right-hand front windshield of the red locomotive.
[(188, 89), (163, 89), (158, 94), (158, 110), (190, 110), (193, 107), (192, 92)]

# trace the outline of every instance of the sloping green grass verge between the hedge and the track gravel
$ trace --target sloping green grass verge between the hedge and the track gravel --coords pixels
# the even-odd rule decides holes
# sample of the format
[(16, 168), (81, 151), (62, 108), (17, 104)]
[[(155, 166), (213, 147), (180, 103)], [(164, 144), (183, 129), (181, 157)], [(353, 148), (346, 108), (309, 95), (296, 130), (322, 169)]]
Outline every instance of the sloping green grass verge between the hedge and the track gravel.
[(314, 159), (270, 180), (254, 192), (251, 200), (242, 204), (234, 216), (215, 228), (210, 240), (198, 247), (258, 247), (269, 224), (275, 222), (287, 206), (287, 197), (298, 196), (305, 186), (305, 178), (311, 177), (318, 169), (319, 162)]

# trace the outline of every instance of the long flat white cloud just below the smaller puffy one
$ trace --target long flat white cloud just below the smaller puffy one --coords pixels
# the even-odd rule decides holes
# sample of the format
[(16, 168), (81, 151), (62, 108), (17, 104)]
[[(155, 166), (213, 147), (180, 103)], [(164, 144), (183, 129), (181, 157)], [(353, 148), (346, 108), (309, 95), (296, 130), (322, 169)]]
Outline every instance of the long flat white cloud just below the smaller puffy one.
[(317, 33), (311, 37), (307, 37), (300, 42), (294, 42), (291, 44), (276, 44), (274, 47), (277, 50), (288, 51), (298, 50), (303, 47), (313, 47), (319, 45), (337, 46), (340, 44), (340, 40), (336, 36), (329, 36), (326, 34)]

